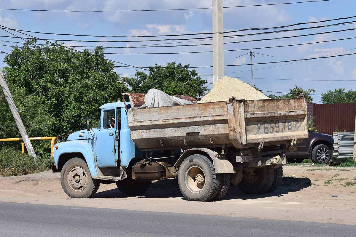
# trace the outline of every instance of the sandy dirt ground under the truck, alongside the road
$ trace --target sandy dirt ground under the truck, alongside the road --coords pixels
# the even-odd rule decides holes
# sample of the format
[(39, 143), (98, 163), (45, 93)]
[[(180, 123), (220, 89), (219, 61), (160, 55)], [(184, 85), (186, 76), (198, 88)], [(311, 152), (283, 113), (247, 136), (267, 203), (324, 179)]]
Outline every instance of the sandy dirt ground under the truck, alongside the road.
[(115, 184), (101, 184), (93, 198), (71, 199), (60, 173), (46, 171), (0, 177), (0, 201), (356, 225), (356, 168), (309, 164), (283, 171), (273, 193), (250, 195), (230, 187), (222, 200), (209, 202), (187, 201), (177, 179), (157, 181), (143, 196), (127, 197)]

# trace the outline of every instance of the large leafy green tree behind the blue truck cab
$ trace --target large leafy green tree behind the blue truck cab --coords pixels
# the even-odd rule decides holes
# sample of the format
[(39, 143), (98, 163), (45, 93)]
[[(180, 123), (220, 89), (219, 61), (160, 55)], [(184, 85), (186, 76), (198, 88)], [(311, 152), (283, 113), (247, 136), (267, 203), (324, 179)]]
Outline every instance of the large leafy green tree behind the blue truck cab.
[[(78, 52), (62, 44), (34, 43), (28, 40), (22, 48), (13, 47), (5, 57), (8, 66), (3, 72), (11, 92), (24, 90), (24, 96), (38, 102), (33, 106), (42, 105), (43, 115), (53, 118), (49, 119), (49, 135), (67, 139), (85, 127), (87, 115), (93, 125), (99, 119), (99, 106), (116, 102), (122, 98), (121, 90), (128, 89), (114, 71), (115, 65), (105, 59), (102, 47)], [(28, 113), (32, 110), (27, 107)]]

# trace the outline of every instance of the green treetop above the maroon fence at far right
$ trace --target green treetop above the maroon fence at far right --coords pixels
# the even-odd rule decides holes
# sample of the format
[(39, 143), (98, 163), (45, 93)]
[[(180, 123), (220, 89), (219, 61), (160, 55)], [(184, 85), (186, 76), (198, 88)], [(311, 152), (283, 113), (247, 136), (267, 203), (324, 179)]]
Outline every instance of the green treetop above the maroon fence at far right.
[(345, 92), (344, 89), (335, 89), (321, 93), (321, 102), (323, 104), (337, 104), (337, 103), (354, 103), (356, 102), (356, 91), (349, 90)]

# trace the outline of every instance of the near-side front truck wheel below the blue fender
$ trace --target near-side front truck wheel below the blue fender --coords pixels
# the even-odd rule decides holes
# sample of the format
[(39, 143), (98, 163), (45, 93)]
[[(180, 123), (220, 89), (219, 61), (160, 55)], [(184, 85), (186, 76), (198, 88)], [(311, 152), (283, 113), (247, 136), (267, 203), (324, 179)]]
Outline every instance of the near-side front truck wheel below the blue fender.
[(71, 198), (91, 198), (100, 186), (98, 180), (91, 178), (87, 163), (79, 157), (64, 164), (61, 184), (64, 192)]

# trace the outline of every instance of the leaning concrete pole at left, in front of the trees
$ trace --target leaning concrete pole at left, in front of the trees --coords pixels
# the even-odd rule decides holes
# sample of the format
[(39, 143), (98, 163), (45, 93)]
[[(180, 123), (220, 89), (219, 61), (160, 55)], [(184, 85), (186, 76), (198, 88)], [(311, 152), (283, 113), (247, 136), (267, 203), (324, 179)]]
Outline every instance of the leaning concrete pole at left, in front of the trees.
[(33, 160), (36, 160), (37, 159), (36, 153), (33, 150), (30, 139), (27, 136), (25, 126), (23, 126), (19, 111), (17, 111), (14, 99), (11, 96), (9, 87), (7, 87), (7, 84), (6, 84), (4, 75), (2, 75), (1, 69), (0, 69), (0, 84), (1, 84), (2, 90), (4, 91), (5, 97), (7, 99), (7, 103), (9, 103), (12, 115), (14, 115), (15, 122), (17, 124), (17, 127), (19, 128), (19, 131), (22, 136), (23, 143), (26, 146), (27, 152), (28, 152), (28, 154), (30, 154), (30, 156), (33, 157)]

